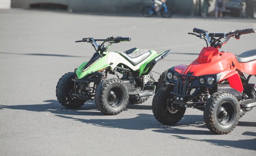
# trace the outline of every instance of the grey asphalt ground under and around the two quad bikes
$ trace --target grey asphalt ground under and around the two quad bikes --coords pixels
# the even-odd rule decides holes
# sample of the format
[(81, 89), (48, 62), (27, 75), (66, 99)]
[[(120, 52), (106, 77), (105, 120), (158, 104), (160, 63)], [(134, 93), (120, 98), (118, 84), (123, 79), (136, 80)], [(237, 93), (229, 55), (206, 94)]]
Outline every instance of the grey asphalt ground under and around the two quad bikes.
[[(153, 97), (128, 104), (116, 116), (101, 114), (94, 101), (66, 109), (56, 100), (58, 79), (94, 53), (91, 45), (75, 40), (123, 36), (132, 41), (114, 44), (111, 51), (171, 49), (153, 68), (162, 73), (198, 57), (205, 42), (188, 35), (194, 27), (220, 33), (256, 28), (256, 20), (0, 10), (0, 155), (256, 155), (255, 108), (230, 134), (214, 135), (197, 109), (187, 109), (175, 126), (158, 123)], [(234, 54), (250, 49), (256, 49), (256, 33), (231, 38), (222, 47)]]

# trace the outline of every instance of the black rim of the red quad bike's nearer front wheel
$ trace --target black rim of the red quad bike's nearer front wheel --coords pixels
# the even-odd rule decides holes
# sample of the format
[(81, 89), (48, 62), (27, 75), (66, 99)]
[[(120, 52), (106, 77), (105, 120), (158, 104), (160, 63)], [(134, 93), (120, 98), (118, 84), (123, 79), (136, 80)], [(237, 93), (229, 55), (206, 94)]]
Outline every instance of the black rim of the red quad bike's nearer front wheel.
[(230, 101), (224, 101), (217, 110), (217, 119), (221, 125), (228, 125), (234, 118), (235, 107)]

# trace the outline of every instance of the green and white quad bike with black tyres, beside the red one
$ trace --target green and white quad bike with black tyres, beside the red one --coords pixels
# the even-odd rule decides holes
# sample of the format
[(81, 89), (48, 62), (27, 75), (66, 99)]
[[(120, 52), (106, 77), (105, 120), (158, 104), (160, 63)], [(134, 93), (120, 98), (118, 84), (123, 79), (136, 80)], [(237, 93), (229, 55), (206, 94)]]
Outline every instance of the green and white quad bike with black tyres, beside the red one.
[[(92, 44), (96, 53), (74, 72), (64, 74), (56, 86), (58, 102), (67, 108), (79, 108), (87, 100), (95, 100), (97, 108), (106, 115), (123, 111), (128, 101), (143, 103), (155, 93), (157, 82), (150, 73), (154, 65), (171, 52), (132, 48), (125, 52), (110, 52), (113, 43), (131, 38), (83, 38), (76, 42)], [(103, 41), (100, 45), (96, 41)], [(107, 46), (104, 43), (108, 42)], [(113, 74), (108, 78), (108, 74)]]

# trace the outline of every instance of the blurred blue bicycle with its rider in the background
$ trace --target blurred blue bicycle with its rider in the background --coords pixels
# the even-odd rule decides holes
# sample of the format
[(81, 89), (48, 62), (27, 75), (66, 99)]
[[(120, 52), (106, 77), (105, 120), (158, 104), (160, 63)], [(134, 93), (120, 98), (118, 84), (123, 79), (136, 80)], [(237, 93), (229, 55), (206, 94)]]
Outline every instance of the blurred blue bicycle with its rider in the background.
[(151, 2), (153, 3), (152, 5), (145, 6), (142, 9), (144, 17), (152, 17), (159, 13), (165, 18), (170, 18), (173, 15), (173, 10), (166, 5), (166, 0), (151, 0)]

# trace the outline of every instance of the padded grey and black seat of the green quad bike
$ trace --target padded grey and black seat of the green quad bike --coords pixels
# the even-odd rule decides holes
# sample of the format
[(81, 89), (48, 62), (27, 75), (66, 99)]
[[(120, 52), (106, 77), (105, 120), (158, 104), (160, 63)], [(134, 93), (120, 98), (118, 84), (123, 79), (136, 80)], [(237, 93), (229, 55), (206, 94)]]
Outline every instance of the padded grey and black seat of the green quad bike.
[[(136, 50), (136, 49), (134, 49)], [(126, 60), (128, 60), (133, 66), (138, 65), (140, 62), (145, 60), (148, 56), (151, 55), (151, 51), (148, 49), (141, 49), (137, 51), (132, 51), (132, 49), (128, 50), (125, 53), (119, 53)], [(130, 52), (130, 53), (129, 53)]]

